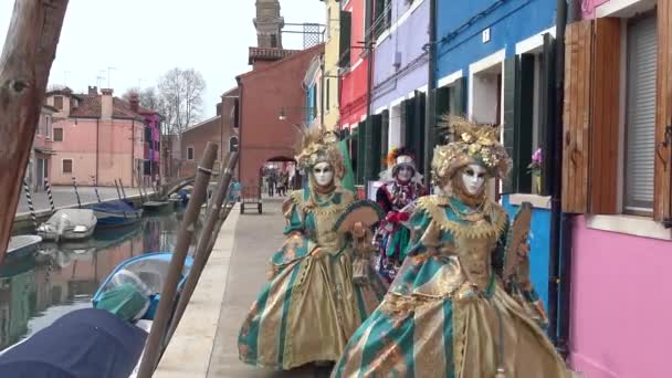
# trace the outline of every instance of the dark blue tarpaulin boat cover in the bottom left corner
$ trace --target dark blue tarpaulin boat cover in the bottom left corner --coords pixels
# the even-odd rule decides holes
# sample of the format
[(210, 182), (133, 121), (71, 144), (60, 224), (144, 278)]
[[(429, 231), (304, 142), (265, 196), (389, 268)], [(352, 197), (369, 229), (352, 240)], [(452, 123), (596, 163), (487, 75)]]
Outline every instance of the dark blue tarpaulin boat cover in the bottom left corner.
[(77, 309), (0, 355), (0, 377), (127, 378), (146, 337), (104, 309)]

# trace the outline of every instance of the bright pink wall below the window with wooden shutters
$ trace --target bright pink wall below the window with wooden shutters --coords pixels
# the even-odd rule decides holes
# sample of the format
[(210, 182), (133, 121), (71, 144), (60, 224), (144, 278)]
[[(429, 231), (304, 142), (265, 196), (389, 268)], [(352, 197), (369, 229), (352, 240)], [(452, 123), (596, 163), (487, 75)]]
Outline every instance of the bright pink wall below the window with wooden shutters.
[(570, 359), (587, 378), (672, 377), (672, 242), (575, 223)]

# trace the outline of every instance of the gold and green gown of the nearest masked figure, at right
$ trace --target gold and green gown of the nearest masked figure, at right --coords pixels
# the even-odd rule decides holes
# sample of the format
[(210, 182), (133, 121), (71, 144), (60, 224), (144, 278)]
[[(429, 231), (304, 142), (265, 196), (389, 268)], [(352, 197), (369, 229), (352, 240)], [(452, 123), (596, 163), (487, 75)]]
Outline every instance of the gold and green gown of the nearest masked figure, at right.
[(569, 377), (534, 288), (502, 284), (508, 218), (498, 204), (424, 197), (411, 225), (408, 258), (334, 377)]

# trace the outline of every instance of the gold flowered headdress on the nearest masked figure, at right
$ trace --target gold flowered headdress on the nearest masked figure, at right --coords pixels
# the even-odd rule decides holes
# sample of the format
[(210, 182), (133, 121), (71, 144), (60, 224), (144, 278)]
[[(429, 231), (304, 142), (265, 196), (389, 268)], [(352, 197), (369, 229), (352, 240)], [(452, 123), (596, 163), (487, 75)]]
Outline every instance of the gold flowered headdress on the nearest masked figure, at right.
[(452, 134), (452, 143), (434, 148), (432, 170), (444, 181), (455, 171), (470, 164), (479, 164), (492, 177), (506, 178), (512, 161), (500, 143), (500, 128), (493, 125), (475, 124), (456, 116), (442, 116), (440, 127)]

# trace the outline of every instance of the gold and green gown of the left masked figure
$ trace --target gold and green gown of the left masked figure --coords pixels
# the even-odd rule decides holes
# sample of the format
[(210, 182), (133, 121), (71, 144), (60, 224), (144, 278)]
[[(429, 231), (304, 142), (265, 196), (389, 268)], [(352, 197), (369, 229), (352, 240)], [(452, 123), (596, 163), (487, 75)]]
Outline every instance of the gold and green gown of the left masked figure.
[(333, 230), (350, 203), (348, 191), (323, 196), (308, 189), (285, 202), (286, 240), (241, 328), (241, 360), (273, 369), (336, 361), (378, 306), (382, 282), (370, 269), (368, 280), (354, 283), (353, 265), (364, 258), (349, 238)]

